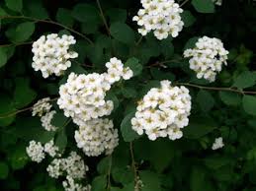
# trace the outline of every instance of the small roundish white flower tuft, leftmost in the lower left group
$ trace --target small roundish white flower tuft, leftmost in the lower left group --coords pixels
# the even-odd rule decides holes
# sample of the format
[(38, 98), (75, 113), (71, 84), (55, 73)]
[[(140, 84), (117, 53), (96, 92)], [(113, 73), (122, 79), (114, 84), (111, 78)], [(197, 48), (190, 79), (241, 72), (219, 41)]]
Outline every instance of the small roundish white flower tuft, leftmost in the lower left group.
[(28, 156), (33, 160), (40, 163), (44, 158), (43, 146), (40, 142), (31, 141), (29, 147), (26, 148)]

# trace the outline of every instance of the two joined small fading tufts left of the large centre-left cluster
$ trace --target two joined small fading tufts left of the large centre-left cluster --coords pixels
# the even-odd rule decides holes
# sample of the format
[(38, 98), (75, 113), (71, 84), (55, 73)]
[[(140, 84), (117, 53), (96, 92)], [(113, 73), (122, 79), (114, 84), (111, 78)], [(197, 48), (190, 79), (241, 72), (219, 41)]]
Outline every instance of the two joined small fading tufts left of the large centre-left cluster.
[(57, 127), (51, 124), (51, 120), (56, 114), (55, 110), (51, 110), (52, 105), (49, 103), (49, 97), (40, 99), (33, 105), (32, 115), (38, 115), (41, 117), (42, 126), (46, 131), (56, 131)]

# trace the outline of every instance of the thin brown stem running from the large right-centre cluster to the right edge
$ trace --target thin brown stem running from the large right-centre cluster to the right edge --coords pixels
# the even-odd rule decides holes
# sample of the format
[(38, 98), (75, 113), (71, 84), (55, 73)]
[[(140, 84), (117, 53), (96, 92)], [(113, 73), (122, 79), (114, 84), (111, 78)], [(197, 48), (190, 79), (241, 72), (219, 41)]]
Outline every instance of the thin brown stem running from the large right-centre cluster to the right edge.
[(205, 86), (199, 86), (199, 85), (194, 85), (190, 83), (176, 83), (177, 85), (181, 86), (187, 86), (187, 87), (192, 87), (192, 88), (197, 88), (197, 89), (203, 89), (203, 90), (209, 90), (209, 91), (224, 91), (224, 92), (233, 92), (233, 93), (238, 93), (241, 95), (256, 95), (256, 92), (253, 91), (240, 91), (232, 88), (222, 88), (222, 87), (205, 87)]

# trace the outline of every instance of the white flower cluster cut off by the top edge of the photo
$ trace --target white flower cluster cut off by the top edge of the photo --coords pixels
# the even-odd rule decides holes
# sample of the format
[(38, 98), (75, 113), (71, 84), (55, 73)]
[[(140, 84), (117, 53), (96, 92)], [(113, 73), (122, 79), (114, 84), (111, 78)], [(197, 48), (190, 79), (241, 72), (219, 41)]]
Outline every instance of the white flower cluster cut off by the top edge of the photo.
[(174, 0), (140, 0), (143, 9), (139, 9), (133, 21), (141, 27), (138, 32), (146, 35), (153, 31), (158, 39), (178, 36), (184, 23), (180, 14), (183, 10)]

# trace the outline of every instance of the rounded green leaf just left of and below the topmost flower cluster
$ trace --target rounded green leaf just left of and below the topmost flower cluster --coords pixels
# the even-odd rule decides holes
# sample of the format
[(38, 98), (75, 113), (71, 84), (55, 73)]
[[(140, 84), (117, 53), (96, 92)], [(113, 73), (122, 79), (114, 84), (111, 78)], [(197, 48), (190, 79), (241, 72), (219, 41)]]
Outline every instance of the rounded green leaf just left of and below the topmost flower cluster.
[(126, 44), (133, 44), (135, 40), (134, 32), (128, 27), (127, 24), (114, 23), (110, 27), (111, 35), (119, 41)]

